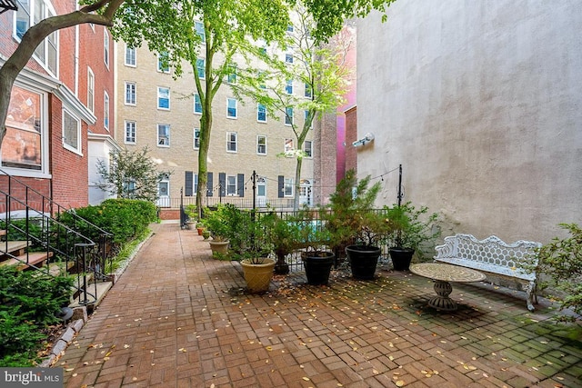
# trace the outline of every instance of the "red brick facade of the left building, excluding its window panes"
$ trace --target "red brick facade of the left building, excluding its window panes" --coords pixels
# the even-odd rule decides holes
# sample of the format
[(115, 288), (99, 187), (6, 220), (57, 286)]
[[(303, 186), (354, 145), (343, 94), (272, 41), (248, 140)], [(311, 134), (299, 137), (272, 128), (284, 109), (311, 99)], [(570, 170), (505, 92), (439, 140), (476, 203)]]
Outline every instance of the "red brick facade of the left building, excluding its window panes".
[[(63, 15), (75, 11), (76, 2), (71, 0), (54, 0), (51, 4), (55, 7), (57, 15)], [(9, 57), (18, 45), (14, 36), (14, 11), (8, 11), (0, 15), (0, 54)], [(9, 174), (16, 179), (30, 184), (35, 190), (65, 207), (80, 207), (88, 204), (88, 133), (113, 135), (114, 122), (114, 76), (113, 64), (115, 61), (113, 39), (107, 33), (109, 40), (108, 66), (104, 60), (104, 28), (100, 25), (78, 25), (58, 32), (58, 79), (50, 78), (45, 68), (38, 64), (33, 57), (25, 67), (23, 73), (34, 78), (35, 74), (49, 75), (45, 84), (33, 85), (41, 94), (47, 95), (43, 104), (43, 111), (36, 117), (38, 123), (42, 123), (39, 132), (44, 136), (44, 142), (48, 142), (42, 150), (47, 153), (43, 159), (42, 169), (20, 170), (18, 167), (9, 168)], [(95, 75), (94, 109), (79, 108), (78, 104), (61, 101), (61, 95), (78, 98), (79, 102), (87, 106), (87, 73), (91, 68)], [(20, 77), (23, 76), (21, 73)], [(45, 77), (46, 78), (46, 77)], [(17, 79), (18, 82), (18, 79)], [(43, 81), (44, 82), (44, 81)], [(30, 85), (30, 83), (28, 82)], [(59, 84), (65, 85), (68, 91), (53, 93)], [(55, 87), (55, 85), (57, 85)], [(25, 89), (28, 86), (23, 86)], [(109, 97), (109, 131), (105, 129), (105, 91)], [(71, 100), (70, 97), (69, 101)], [(11, 100), (13, 104), (14, 100)], [(64, 146), (63, 110), (66, 109), (81, 125), (80, 150), (71, 151)], [(95, 118), (92, 118), (95, 116)], [(43, 117), (48, 117), (44, 120)], [(93, 121), (95, 120), (95, 123)], [(30, 127), (30, 125), (29, 125)], [(8, 150), (5, 151), (6, 153)], [(8, 153), (9, 154), (9, 153)], [(0, 168), (6, 168), (8, 164)], [(38, 177), (30, 177), (38, 175)], [(0, 179), (0, 189), (7, 190), (7, 180)], [(11, 194), (21, 193), (24, 189), (15, 188), (13, 184)], [(30, 199), (30, 198), (29, 198)], [(0, 205), (3, 206), (3, 205)], [(5, 204), (3, 207), (6, 207)], [(12, 206), (14, 208), (14, 205)], [(0, 209), (4, 213), (5, 209)]]

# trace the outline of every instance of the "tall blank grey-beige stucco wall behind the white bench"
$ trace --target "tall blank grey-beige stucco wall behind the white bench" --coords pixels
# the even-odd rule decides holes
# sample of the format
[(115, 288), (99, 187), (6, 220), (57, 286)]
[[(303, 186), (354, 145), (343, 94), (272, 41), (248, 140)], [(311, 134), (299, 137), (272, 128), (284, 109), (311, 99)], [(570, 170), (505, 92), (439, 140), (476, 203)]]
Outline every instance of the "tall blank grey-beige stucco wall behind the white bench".
[(376, 139), (358, 174), (384, 174), (394, 204), (403, 164), (405, 201), (445, 235), (547, 242), (582, 224), (580, 25), (565, 0), (396, 1), (359, 21), (357, 132)]

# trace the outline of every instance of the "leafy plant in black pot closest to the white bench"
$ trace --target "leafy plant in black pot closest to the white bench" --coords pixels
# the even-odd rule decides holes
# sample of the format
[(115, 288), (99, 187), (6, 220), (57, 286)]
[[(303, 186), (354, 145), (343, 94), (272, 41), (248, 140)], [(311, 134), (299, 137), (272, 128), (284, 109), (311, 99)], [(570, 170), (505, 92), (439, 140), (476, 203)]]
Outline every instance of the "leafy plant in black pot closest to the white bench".
[(388, 236), (394, 270), (407, 271), (415, 253), (418, 260), (423, 261), (428, 245), (431, 245), (431, 250), (434, 248), (434, 242), (440, 236), (440, 229), (435, 227), (438, 214), (428, 214), (426, 206), (416, 209), (410, 202), (385, 209), (394, 225)]

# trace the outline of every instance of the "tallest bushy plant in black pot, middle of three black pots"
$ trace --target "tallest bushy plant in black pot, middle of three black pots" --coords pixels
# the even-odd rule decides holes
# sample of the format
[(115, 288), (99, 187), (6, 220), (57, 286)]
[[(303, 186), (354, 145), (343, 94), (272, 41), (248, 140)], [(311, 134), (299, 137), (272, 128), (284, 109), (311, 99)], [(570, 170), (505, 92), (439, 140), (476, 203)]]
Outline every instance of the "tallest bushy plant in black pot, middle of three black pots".
[(330, 196), (327, 226), (339, 246), (345, 246), (347, 258), (356, 279), (373, 279), (381, 254), (378, 242), (392, 231), (392, 223), (384, 212), (373, 209), (380, 183), (372, 186), (370, 175), (357, 180), (349, 170)]

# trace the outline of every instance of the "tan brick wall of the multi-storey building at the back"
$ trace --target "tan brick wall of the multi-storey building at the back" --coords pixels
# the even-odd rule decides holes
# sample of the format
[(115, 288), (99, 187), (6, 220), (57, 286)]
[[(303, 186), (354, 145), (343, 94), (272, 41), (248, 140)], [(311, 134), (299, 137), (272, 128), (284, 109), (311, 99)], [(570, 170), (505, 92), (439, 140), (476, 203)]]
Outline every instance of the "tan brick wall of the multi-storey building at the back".
[[(172, 73), (158, 72), (157, 57), (150, 53), (146, 46), (137, 49), (136, 66), (124, 65), (125, 44), (116, 45), (117, 58), (117, 98), (116, 98), (116, 140), (128, 149), (141, 149), (148, 146), (150, 155), (159, 163), (160, 170), (171, 171), (169, 192), (170, 197), (177, 199), (180, 189), (185, 185), (185, 172), (197, 174), (198, 151), (194, 149), (194, 128), (200, 127), (200, 114), (194, 113), (194, 97), (196, 85), (192, 69), (184, 66), (184, 75), (177, 80)], [(241, 64), (244, 62), (241, 60)], [(135, 106), (124, 103), (125, 82), (136, 84)], [(170, 109), (157, 109), (157, 87), (170, 88)], [(296, 83), (294, 91), (303, 93), (302, 85)], [(301, 86), (301, 88), (299, 87)], [(213, 184), (217, 188), (218, 174), (227, 175), (245, 174), (246, 203), (252, 201), (251, 174), (266, 178), (266, 196), (268, 199), (277, 199), (277, 177), (295, 179), (296, 159), (281, 157), (285, 151), (285, 139), (295, 139), (290, 126), (285, 125), (283, 115), (277, 121), (267, 117), (267, 122), (256, 121), (256, 103), (246, 101), (237, 104), (237, 118), (226, 117), (226, 99), (233, 97), (230, 87), (225, 83), (217, 92), (214, 99), (214, 124), (211, 132), (210, 150), (208, 154), (208, 172), (213, 173)], [(303, 123), (303, 111), (295, 112), (296, 120)], [(125, 143), (125, 120), (136, 122), (135, 144)], [(171, 124), (170, 146), (158, 146), (157, 124)], [(226, 132), (238, 134), (238, 152), (226, 152)], [(266, 155), (256, 154), (257, 135), (266, 135)], [(307, 136), (312, 140), (313, 134)], [(302, 166), (302, 178), (313, 181), (313, 159), (306, 158)], [(218, 197), (217, 189), (214, 197)], [(194, 201), (194, 197), (189, 201)], [(224, 201), (226, 202), (226, 201)], [(176, 205), (177, 202), (172, 204)]]

